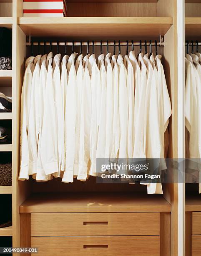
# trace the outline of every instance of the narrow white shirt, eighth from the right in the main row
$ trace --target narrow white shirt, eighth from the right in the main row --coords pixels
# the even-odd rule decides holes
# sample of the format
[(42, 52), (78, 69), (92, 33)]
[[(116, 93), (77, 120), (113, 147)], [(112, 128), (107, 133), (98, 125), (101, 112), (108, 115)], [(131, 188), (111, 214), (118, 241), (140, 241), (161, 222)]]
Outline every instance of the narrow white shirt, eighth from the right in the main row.
[(118, 99), (118, 65), (117, 56), (113, 55), (111, 60), (113, 67), (112, 83), (113, 83), (113, 133), (112, 133), (112, 151), (111, 161), (118, 158), (119, 142), (120, 142), (120, 123), (119, 123), (119, 99)]

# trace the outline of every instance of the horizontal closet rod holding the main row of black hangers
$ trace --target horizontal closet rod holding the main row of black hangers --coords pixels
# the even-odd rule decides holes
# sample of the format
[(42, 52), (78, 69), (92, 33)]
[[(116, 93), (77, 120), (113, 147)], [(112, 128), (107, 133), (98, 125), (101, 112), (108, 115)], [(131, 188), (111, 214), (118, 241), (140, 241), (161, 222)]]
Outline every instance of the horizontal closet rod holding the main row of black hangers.
[[(38, 41), (38, 42), (27, 42), (26, 45), (27, 46), (31, 46), (31, 44), (33, 44), (35, 46), (38, 46), (39, 42), (40, 42), (40, 46), (43, 46), (44, 43), (45, 43), (45, 46), (50, 46), (50, 44), (52, 46), (57, 46), (57, 45), (65, 46), (65, 43), (66, 43), (66, 46), (72, 46), (73, 45), (72, 41), (71, 42), (48, 42), (48, 41), (46, 42), (46, 41)], [(82, 46), (87, 46), (87, 45), (88, 45), (88, 42), (82, 42)], [(96, 41), (96, 42), (94, 42), (94, 45), (95, 46), (100, 46), (100, 42)], [(102, 45), (103, 46), (107, 46), (107, 41), (103, 41)], [(109, 46), (114, 46), (114, 41), (108, 42), (108, 45)], [(129, 42), (128, 45), (132, 46), (132, 42)], [(133, 42), (133, 46), (140, 46), (140, 45), (145, 46), (145, 42), (142, 41), (142, 44), (140, 44), (140, 42)], [(149, 46), (149, 45), (150, 45), (150, 43), (149, 43), (149, 41), (147, 41), (147, 46)], [(151, 45), (152, 46), (156, 46), (155, 41), (151, 42)], [(80, 46), (80, 42), (79, 41), (74, 42), (74, 46)], [(92, 41), (89, 42), (89, 46), (93, 46)], [(116, 46), (118, 46), (118, 41), (116, 41)], [(122, 41), (121, 42), (121, 46), (127, 46), (127, 42)], [(160, 42), (157, 42), (157, 46), (164, 46), (164, 42), (161, 42), (161, 44), (160, 44)]]

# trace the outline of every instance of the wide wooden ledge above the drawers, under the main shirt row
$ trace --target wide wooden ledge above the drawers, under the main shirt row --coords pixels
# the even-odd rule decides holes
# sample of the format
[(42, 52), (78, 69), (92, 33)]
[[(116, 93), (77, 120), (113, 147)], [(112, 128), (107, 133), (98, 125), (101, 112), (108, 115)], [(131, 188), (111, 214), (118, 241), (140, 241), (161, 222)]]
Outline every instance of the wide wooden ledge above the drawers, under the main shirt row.
[(131, 193), (33, 194), (20, 212), (170, 212), (161, 195)]

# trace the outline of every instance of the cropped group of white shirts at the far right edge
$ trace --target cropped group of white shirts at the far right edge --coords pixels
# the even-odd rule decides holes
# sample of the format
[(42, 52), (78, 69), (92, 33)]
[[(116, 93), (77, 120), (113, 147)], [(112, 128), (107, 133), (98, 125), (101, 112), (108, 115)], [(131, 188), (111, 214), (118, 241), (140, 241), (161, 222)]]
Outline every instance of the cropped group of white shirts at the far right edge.
[[(186, 54), (185, 58), (185, 125), (186, 158), (201, 159), (201, 54)], [(196, 162), (197, 162), (196, 160)], [(198, 165), (200, 166), (200, 163)], [(193, 166), (188, 166), (194, 169)], [(200, 169), (200, 168), (199, 168)], [(201, 170), (199, 172), (201, 180)], [(201, 193), (201, 184), (199, 184)]]

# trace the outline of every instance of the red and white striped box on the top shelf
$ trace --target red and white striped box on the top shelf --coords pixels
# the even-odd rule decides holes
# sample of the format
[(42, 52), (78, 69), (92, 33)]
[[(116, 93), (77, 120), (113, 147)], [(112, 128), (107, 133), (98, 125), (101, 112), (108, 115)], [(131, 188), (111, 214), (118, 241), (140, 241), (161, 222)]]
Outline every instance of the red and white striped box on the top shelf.
[(23, 17), (65, 17), (65, 0), (23, 0)]

